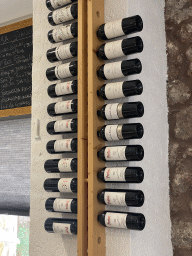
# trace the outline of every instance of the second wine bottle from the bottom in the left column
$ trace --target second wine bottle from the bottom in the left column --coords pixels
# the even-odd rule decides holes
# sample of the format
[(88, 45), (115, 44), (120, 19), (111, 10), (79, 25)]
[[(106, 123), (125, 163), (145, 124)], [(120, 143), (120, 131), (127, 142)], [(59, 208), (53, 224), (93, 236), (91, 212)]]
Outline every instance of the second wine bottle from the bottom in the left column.
[(45, 202), (45, 209), (49, 212), (77, 213), (77, 199), (48, 198)]

